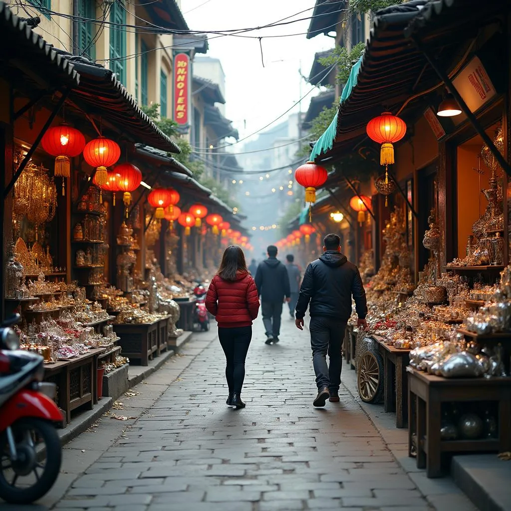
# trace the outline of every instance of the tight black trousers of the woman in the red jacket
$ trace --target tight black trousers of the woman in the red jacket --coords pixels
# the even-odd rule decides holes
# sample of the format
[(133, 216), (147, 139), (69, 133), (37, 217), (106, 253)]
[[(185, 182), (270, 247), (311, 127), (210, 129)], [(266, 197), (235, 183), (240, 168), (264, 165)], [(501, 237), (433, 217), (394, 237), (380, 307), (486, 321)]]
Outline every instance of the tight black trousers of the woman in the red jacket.
[(229, 393), (241, 393), (245, 379), (245, 359), (252, 339), (252, 327), (219, 328), (218, 338), (225, 353), (225, 379)]

